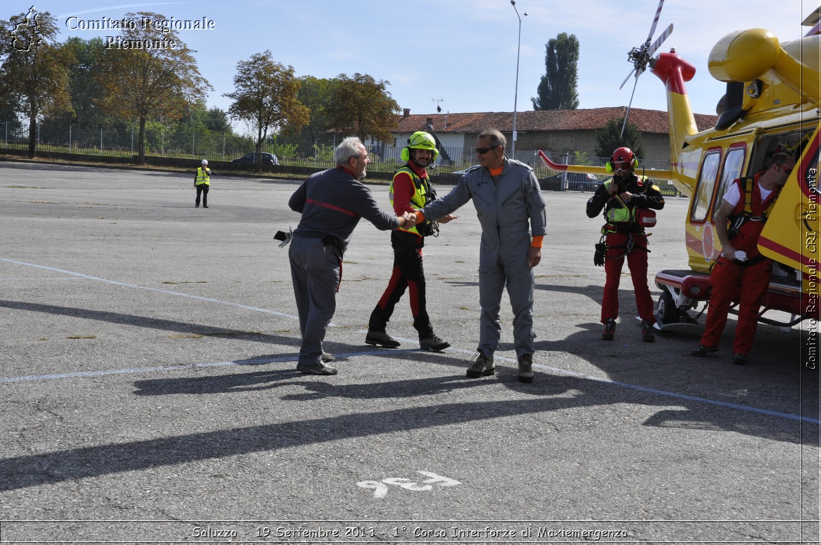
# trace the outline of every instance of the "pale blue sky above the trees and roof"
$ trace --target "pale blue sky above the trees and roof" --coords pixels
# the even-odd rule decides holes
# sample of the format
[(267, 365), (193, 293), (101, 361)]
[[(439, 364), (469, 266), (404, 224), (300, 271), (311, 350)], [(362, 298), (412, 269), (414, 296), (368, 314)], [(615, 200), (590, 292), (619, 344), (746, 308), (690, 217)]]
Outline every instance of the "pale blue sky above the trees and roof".
[[(33, 0), (7, 0), (0, 18), (28, 11)], [(797, 39), (800, 25), (819, 0), (666, 0), (654, 38), (672, 23), (671, 47), (696, 67), (688, 93), (695, 112), (714, 113), (724, 84), (707, 70), (710, 49), (733, 30), (765, 28), (781, 41)], [(509, 0), (245, 1), (234, 2), (34, 2), (37, 11), (59, 17), (61, 41), (116, 35), (117, 30), (70, 30), (67, 19), (99, 21), (122, 18), (128, 11), (155, 11), (168, 19), (214, 21), (213, 30), (181, 30), (180, 38), (197, 50), (200, 72), (214, 90), (208, 106), (227, 109), (222, 94), (233, 90), (236, 63), (270, 49), (277, 62), (294, 67), (297, 76), (330, 78), (366, 73), (388, 80), (401, 108), (412, 113), (512, 112), (516, 94), (516, 45), (519, 21)], [(544, 75), (544, 48), (561, 32), (580, 41), (580, 108), (626, 106), (633, 79), (627, 52), (644, 43), (658, 0), (517, 0), (523, 16), (516, 99), (518, 111), (533, 109)], [(774, 8), (774, 7), (777, 7)], [(529, 12), (524, 16), (524, 12)], [(661, 82), (641, 76), (633, 107), (665, 109)]]

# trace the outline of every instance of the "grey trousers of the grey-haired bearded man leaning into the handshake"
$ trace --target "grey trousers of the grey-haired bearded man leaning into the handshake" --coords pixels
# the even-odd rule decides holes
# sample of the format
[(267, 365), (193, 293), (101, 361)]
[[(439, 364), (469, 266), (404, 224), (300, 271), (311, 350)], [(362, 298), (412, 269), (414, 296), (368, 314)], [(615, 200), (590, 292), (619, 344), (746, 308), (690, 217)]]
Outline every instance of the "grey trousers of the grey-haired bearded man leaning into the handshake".
[(322, 341), (337, 309), (342, 256), (337, 246), (324, 246), (321, 239), (294, 237), (288, 257), (302, 333), (299, 364), (319, 364)]

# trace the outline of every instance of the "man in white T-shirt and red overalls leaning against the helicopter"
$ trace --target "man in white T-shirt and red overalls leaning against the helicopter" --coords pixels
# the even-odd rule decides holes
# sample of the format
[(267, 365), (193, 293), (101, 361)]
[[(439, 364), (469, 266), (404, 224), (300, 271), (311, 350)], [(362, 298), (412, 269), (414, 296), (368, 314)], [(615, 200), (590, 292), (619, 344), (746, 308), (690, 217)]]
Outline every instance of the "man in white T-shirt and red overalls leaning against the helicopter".
[(765, 258), (758, 250), (759, 235), (779, 190), (787, 183), (795, 165), (787, 153), (776, 153), (767, 170), (752, 178), (737, 178), (724, 194), (721, 208), (713, 216), (716, 235), (721, 242), (721, 255), (710, 272), (713, 290), (704, 334), (692, 355), (704, 356), (718, 350), (732, 295), (740, 285), (732, 363), (747, 363), (758, 327), (761, 300), (773, 276), (773, 260)]

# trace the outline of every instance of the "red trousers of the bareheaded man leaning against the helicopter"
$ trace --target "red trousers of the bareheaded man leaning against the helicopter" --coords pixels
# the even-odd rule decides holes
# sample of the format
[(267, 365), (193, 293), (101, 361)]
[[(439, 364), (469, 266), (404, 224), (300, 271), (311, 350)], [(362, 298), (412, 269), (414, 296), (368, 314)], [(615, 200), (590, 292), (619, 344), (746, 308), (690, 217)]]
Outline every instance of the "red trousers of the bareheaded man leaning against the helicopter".
[(767, 292), (770, 278), (773, 277), (773, 261), (764, 259), (749, 267), (736, 265), (730, 259), (720, 257), (710, 272), (709, 308), (707, 322), (701, 344), (710, 348), (718, 346), (724, 326), (727, 325), (727, 313), (732, 304), (732, 295), (741, 281), (741, 297), (738, 301), (738, 325), (736, 337), (732, 343), (733, 354), (749, 355), (753, 347), (755, 329), (759, 325), (759, 307)]

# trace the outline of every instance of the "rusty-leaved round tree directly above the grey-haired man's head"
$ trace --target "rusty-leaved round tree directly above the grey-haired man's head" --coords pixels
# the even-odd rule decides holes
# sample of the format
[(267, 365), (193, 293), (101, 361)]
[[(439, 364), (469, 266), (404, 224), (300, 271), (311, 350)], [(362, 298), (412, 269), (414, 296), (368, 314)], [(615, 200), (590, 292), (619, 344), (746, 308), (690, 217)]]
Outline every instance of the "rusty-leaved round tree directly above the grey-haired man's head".
[(325, 109), (328, 129), (340, 131), (343, 136), (359, 136), (363, 142), (369, 136), (392, 142), (400, 109), (388, 93), (388, 85), (389, 81), (376, 81), (367, 74), (356, 73), (351, 78), (340, 74), (333, 81), (331, 102)]

